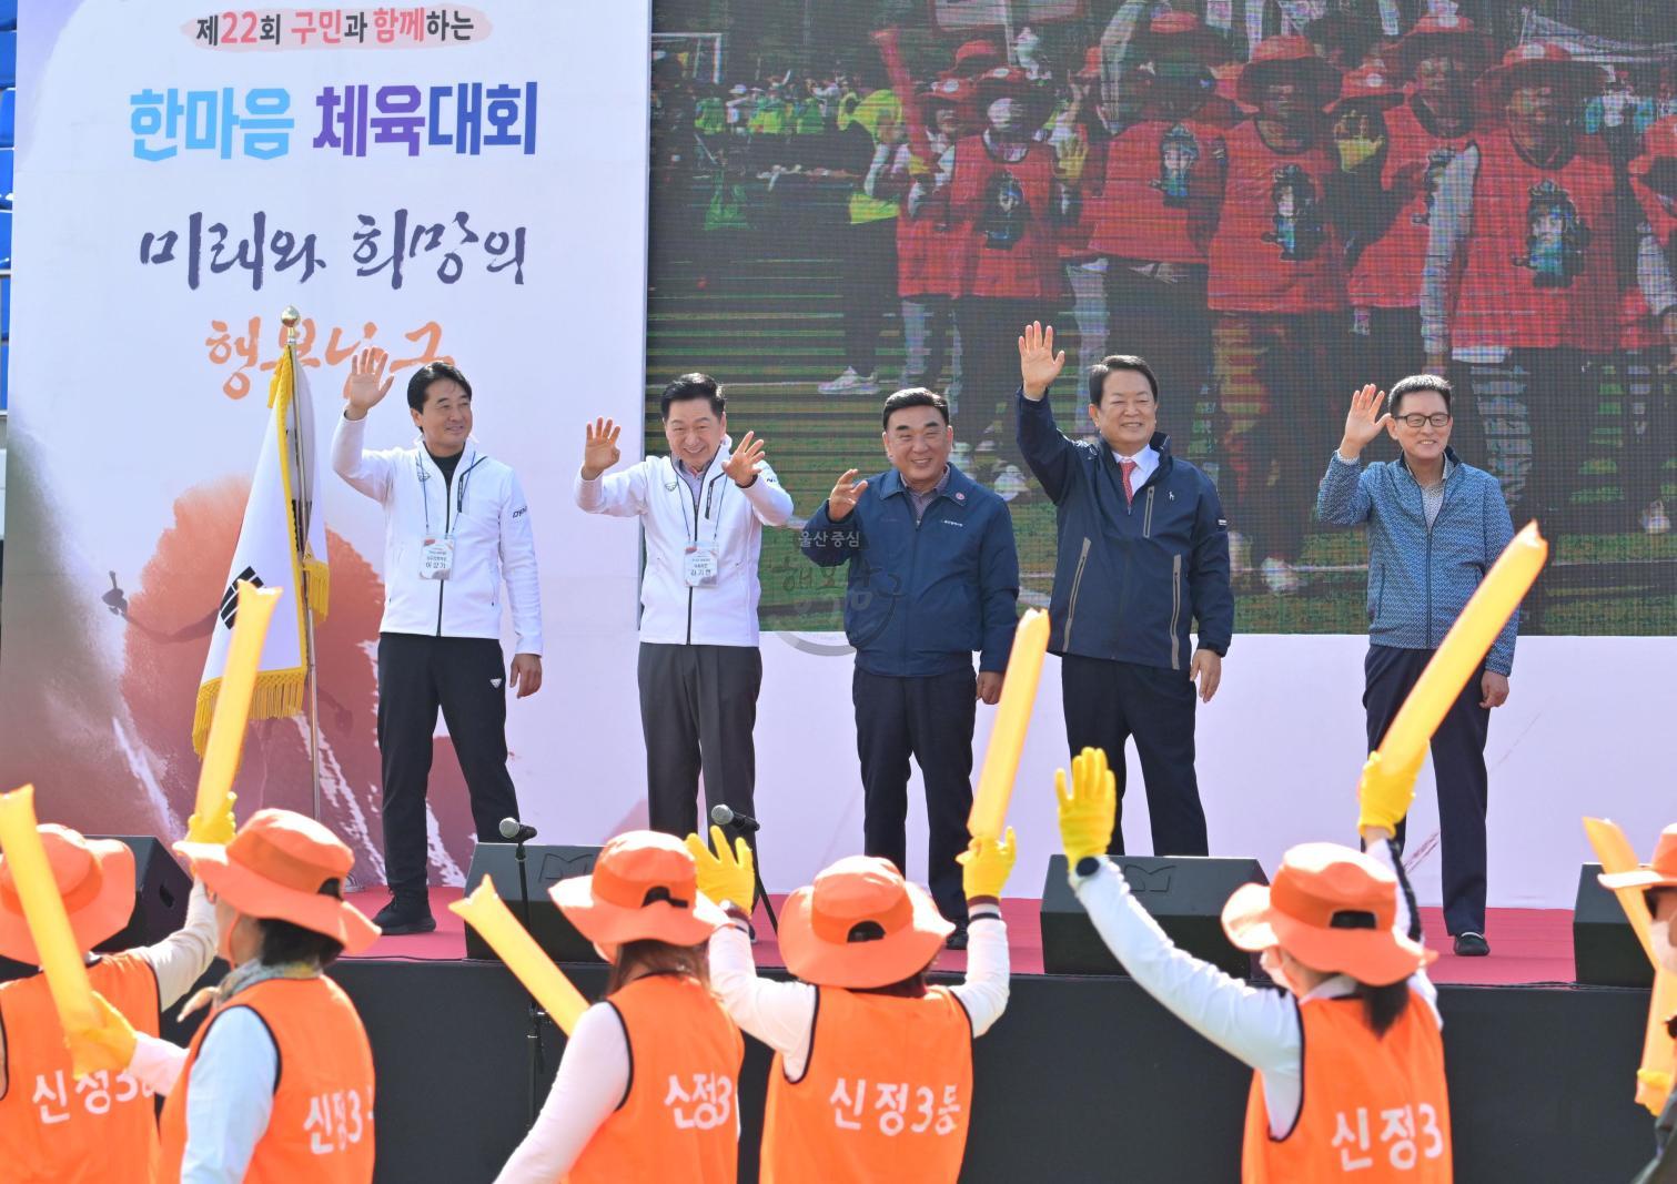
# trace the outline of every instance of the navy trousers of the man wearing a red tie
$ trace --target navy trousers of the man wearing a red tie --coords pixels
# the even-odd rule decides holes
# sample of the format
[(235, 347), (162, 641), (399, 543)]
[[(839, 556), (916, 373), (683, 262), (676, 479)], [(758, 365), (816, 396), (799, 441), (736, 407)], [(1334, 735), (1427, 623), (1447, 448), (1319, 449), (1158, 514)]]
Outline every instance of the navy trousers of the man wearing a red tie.
[(1067, 654), (1060, 659), (1060, 693), (1072, 755), (1103, 750), (1119, 783), (1119, 818), (1108, 852), (1124, 854), (1124, 745), (1135, 736), (1154, 855), (1209, 855), (1194, 775), (1199, 693), (1187, 671)]

